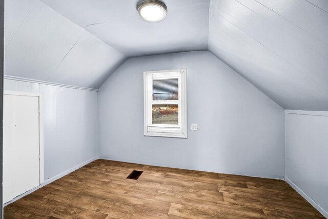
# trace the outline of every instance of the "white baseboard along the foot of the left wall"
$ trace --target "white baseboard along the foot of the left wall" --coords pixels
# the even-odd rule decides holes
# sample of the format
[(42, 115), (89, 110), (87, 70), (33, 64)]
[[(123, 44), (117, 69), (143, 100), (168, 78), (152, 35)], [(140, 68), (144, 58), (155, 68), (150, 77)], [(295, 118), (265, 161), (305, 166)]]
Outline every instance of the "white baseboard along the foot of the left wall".
[(37, 186), (37, 187), (35, 187), (35, 188), (33, 188), (33, 189), (31, 189), (31, 190), (29, 190), (29, 191), (27, 191), (27, 192), (21, 194), (21, 195), (18, 195), (18, 196), (15, 197), (13, 200), (11, 200), (11, 201), (5, 203), (5, 204), (3, 205), (3, 207), (9, 205), (10, 203), (15, 202), (15, 201), (18, 200), (19, 198), (22, 198), (22, 197), (24, 197), (25, 195), (28, 195), (28, 194), (34, 192), (35, 190), (37, 190), (37, 189), (39, 189), (39, 188), (41, 188), (41, 187), (44, 187), (45, 185), (48, 185), (49, 183), (52, 183), (52, 182), (58, 180), (58, 178), (61, 178), (61, 177), (65, 176), (65, 175), (67, 175), (67, 174), (69, 174), (69, 173), (71, 173), (71, 172), (73, 172), (73, 171), (75, 171), (75, 170), (77, 170), (77, 169), (79, 169), (79, 168), (81, 168), (81, 167), (83, 167), (83, 166), (85, 166), (85, 165), (87, 165), (87, 164), (89, 164), (89, 163), (91, 163), (91, 162), (97, 160), (98, 158), (99, 158), (99, 156), (95, 156), (95, 157), (89, 159), (88, 161), (85, 161), (85, 162), (83, 162), (83, 163), (81, 163), (81, 164), (79, 164), (79, 165), (76, 165), (75, 167), (73, 167), (73, 168), (71, 168), (71, 169), (69, 169), (69, 170), (66, 170), (65, 172), (62, 172), (62, 173), (60, 173), (60, 174), (58, 174), (58, 175), (56, 175), (56, 176), (54, 176), (54, 177), (52, 177), (52, 178), (49, 178), (48, 180), (46, 180), (46, 181), (44, 181), (43, 183), (41, 183), (39, 186)]

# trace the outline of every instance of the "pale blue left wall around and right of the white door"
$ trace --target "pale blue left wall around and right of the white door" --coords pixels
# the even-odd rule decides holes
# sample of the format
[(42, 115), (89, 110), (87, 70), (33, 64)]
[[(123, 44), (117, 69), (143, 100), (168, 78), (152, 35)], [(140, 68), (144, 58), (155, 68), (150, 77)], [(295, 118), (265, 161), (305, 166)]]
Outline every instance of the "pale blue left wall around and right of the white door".
[(43, 94), (45, 181), (97, 156), (97, 92), (4, 80), (4, 90)]

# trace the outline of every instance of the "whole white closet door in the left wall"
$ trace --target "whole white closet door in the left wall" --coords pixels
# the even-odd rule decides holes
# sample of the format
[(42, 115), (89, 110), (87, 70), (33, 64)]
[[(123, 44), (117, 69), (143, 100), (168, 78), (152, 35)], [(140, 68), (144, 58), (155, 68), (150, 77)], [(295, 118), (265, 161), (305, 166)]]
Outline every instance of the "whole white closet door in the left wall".
[(4, 203), (40, 185), (39, 97), (4, 95)]

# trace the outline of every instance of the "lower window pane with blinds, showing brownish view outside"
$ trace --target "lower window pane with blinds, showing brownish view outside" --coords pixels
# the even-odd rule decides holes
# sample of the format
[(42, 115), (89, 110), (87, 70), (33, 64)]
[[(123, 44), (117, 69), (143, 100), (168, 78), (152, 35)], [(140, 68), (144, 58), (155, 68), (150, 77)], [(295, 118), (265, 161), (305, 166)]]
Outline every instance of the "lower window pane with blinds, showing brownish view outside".
[(152, 105), (152, 124), (179, 124), (177, 104)]

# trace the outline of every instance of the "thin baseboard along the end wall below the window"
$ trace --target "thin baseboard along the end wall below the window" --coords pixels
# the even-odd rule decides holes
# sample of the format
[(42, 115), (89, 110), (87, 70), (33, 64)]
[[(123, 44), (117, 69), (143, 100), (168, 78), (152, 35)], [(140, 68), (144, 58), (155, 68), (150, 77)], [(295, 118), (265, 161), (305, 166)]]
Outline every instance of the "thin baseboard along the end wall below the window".
[[(100, 156), (99, 159), (140, 164), (139, 162), (136, 162), (136, 161), (130, 161), (130, 160), (126, 160), (126, 159), (122, 160), (122, 159), (116, 159), (116, 158), (106, 157), (106, 156)], [(191, 168), (186, 168), (186, 167), (163, 166), (163, 165), (159, 165), (159, 164), (141, 164), (141, 165), (150, 165), (150, 166), (157, 166), (157, 167), (169, 167), (169, 168), (178, 168), (178, 169), (186, 169), (186, 170), (196, 170), (196, 171), (204, 171), (204, 172), (215, 172), (215, 173), (222, 173), (222, 174), (243, 175), (243, 176), (252, 176), (252, 177), (260, 177), (260, 178), (272, 178), (275, 180), (284, 180), (284, 176), (280, 176), (280, 175), (256, 174), (256, 173), (237, 172), (237, 171), (217, 172), (217, 171), (204, 170), (204, 169), (191, 169)]]

